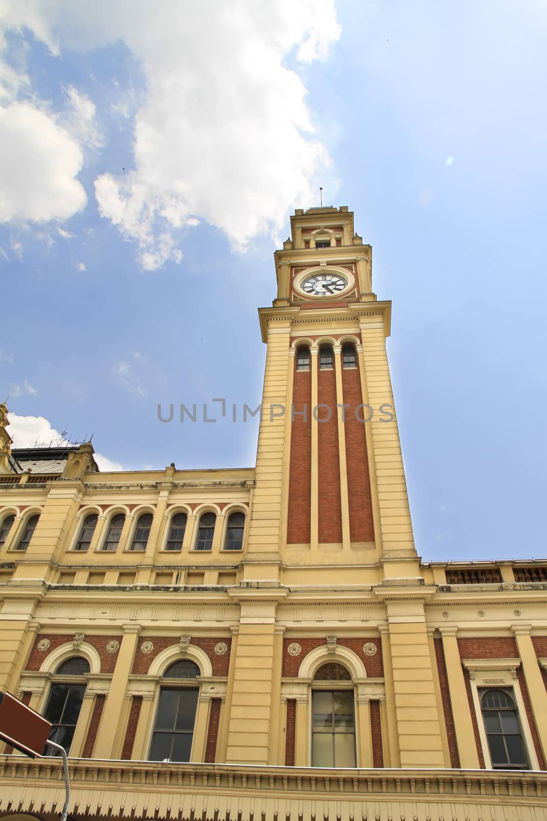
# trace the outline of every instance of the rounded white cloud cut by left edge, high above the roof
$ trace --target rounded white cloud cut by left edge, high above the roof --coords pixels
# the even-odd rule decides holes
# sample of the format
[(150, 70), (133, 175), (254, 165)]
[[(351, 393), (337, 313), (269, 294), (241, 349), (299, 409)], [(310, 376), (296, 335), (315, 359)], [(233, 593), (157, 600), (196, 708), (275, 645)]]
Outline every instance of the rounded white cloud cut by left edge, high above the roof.
[(84, 208), (82, 149), (54, 117), (10, 103), (0, 108), (0, 144), (0, 222), (62, 220)]

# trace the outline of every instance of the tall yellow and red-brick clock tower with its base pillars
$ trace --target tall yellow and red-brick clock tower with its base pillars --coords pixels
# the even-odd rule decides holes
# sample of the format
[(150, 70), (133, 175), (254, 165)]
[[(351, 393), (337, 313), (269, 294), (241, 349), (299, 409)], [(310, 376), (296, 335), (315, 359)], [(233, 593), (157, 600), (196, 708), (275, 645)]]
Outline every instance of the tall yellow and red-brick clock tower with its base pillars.
[[(276, 299), (259, 310), (267, 358), (244, 576), (230, 590), (241, 617), (227, 760), (276, 763), (291, 618), (332, 632), (318, 602), (344, 613), (350, 601), (367, 601), (365, 621), (381, 624), (393, 671), (382, 706), (391, 716), (390, 764), (442, 766), (425, 619), (434, 589), (413, 543), (385, 351), (391, 305), (372, 291), (372, 248), (345, 206), (297, 209), (275, 263)], [(302, 764), (307, 709), (304, 699), (297, 704)], [(249, 710), (250, 725), (242, 718)]]

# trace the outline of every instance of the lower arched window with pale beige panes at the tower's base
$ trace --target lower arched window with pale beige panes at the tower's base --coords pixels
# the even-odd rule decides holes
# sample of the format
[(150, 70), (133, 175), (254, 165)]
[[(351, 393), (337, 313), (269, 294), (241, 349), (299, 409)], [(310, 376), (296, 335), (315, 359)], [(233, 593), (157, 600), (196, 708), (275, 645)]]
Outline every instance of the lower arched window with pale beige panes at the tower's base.
[[(341, 664), (320, 667), (314, 681), (351, 681)], [(353, 687), (312, 690), (312, 767), (355, 767)]]

